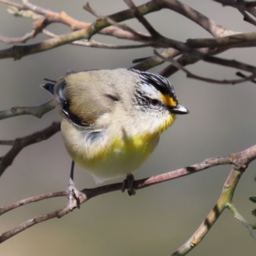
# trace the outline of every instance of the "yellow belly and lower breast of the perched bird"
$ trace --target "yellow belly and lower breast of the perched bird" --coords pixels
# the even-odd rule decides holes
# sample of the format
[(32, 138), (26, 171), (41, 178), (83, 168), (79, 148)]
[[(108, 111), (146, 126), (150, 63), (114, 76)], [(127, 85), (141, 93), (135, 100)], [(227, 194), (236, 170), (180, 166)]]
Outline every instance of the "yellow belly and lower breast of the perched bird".
[(92, 158), (82, 154), (76, 163), (90, 172), (100, 182), (125, 175), (137, 170), (154, 151), (159, 136), (114, 140), (112, 145)]

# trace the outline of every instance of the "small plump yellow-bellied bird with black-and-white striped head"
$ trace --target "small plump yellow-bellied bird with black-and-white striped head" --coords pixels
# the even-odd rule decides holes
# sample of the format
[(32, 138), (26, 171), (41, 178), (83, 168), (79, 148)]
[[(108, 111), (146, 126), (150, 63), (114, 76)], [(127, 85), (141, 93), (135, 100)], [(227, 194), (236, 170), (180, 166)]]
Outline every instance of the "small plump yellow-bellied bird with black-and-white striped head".
[(159, 74), (116, 68), (47, 81), (42, 87), (56, 101), (65, 148), (96, 183), (132, 175), (176, 116), (189, 113)]

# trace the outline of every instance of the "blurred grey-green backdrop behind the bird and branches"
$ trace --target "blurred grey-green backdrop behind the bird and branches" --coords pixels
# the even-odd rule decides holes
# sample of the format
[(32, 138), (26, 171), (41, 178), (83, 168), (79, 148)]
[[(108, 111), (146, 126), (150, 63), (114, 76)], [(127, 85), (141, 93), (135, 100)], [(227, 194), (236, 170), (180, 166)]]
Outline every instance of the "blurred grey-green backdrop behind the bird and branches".
[[(243, 21), (236, 9), (214, 1), (183, 0), (207, 17), (234, 31), (253, 31), (255, 27)], [(67, 12), (77, 20), (93, 22), (95, 17), (83, 10), (84, 1), (33, 0), (54, 12)], [(123, 1), (93, 0), (94, 10), (109, 15), (127, 8)], [(134, 1), (136, 4), (146, 1)], [(154, 28), (164, 36), (185, 41), (188, 38), (211, 37), (204, 29), (170, 10), (147, 15)], [(31, 20), (8, 15), (0, 6), (1, 28), (4, 36), (22, 36), (31, 31)], [(145, 29), (136, 20), (125, 22), (138, 31)], [(69, 31), (61, 24), (52, 24), (50, 31), (63, 34)], [(39, 35), (29, 44), (46, 37)], [(108, 44), (129, 44), (124, 40), (106, 36), (93, 36), (93, 40)], [(11, 45), (1, 44), (1, 49)], [(65, 45), (51, 51), (22, 58), (0, 61), (0, 109), (13, 106), (37, 106), (51, 99), (40, 88), (44, 78), (58, 79), (67, 70), (100, 68), (128, 68), (132, 60), (152, 55), (153, 50), (90, 49)], [(255, 65), (255, 49), (232, 49), (221, 54)], [(166, 65), (154, 68), (158, 72)], [(188, 67), (198, 75), (216, 79), (234, 79), (236, 70), (202, 61)], [(187, 79), (183, 72), (169, 77), (180, 102), (191, 112), (179, 116), (173, 128), (164, 132), (159, 146), (148, 161), (135, 174), (136, 179), (170, 172), (177, 168), (200, 163), (204, 159), (225, 156), (244, 150), (256, 143), (255, 95), (253, 83), (231, 85), (209, 84)], [(236, 77), (237, 78), (237, 77)], [(18, 116), (1, 121), (0, 140), (12, 140), (44, 129), (60, 120), (56, 110), (41, 119)], [(3, 156), (10, 147), (0, 147)], [(5, 206), (51, 191), (67, 187), (70, 157), (63, 146), (60, 132), (50, 140), (24, 148), (0, 179), (0, 205)], [(249, 196), (256, 195), (256, 162), (244, 173), (234, 196), (238, 211), (250, 223), (253, 205)], [(136, 196), (117, 191), (97, 196), (60, 220), (53, 219), (35, 225), (12, 237), (0, 246), (1, 255), (168, 255), (179, 248), (202, 223), (218, 200), (231, 166), (211, 168), (195, 175), (172, 180), (147, 189)], [(120, 181), (120, 180), (119, 180)], [(76, 168), (77, 188), (93, 188), (90, 175)], [(0, 232), (65, 205), (67, 198), (54, 198), (26, 205), (1, 216)], [(256, 243), (246, 229), (226, 210), (211, 231), (189, 255), (254, 255)], [(253, 253), (254, 252), (254, 253)]]

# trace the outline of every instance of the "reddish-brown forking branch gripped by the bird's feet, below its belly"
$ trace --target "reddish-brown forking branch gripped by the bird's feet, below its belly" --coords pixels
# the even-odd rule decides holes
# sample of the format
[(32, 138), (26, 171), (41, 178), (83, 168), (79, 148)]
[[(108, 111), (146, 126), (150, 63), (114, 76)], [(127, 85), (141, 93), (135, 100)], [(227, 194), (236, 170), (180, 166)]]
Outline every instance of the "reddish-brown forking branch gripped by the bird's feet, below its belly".
[[(147, 179), (136, 180), (134, 183), (134, 186), (136, 189), (143, 189), (143, 188), (147, 188), (148, 186), (152, 186), (155, 184), (159, 184), (161, 182), (165, 182), (167, 180), (173, 180), (173, 179), (184, 177), (186, 175), (190, 175), (190, 174), (193, 174), (196, 172), (200, 172), (202, 170), (206, 170), (213, 166), (224, 165), (224, 164), (233, 164), (234, 165), (233, 168), (236, 170), (236, 179), (233, 180), (234, 175), (230, 174), (227, 179), (227, 182), (225, 182), (225, 186), (224, 186), (225, 191), (223, 190), (223, 195), (225, 194), (225, 198), (226, 199), (228, 198), (228, 200), (232, 200), (232, 195), (233, 195), (232, 193), (234, 193), (234, 189), (236, 188), (236, 185), (241, 177), (240, 170), (243, 170), (243, 172), (244, 172), (244, 170), (247, 168), (248, 164), (250, 164), (255, 159), (256, 159), (256, 145), (254, 145), (253, 147), (247, 148), (246, 150), (243, 150), (241, 152), (238, 152), (235, 154), (230, 154), (229, 156), (214, 157), (211, 159), (206, 159), (202, 163), (193, 164), (186, 168), (180, 168), (173, 172), (164, 173), (164, 174), (150, 177)], [(238, 175), (237, 173), (240, 173), (240, 174)], [(237, 179), (237, 177), (239, 177), (239, 179)], [(84, 204), (84, 202), (87, 202), (89, 199), (91, 199), (95, 196), (103, 195), (105, 193), (109, 193), (109, 192), (113, 192), (113, 191), (119, 191), (122, 189), (122, 185), (123, 185), (122, 182), (120, 182), (120, 183), (100, 186), (100, 187), (93, 188), (93, 189), (83, 189), (81, 191), (82, 192), (81, 197), (79, 198), (80, 205)], [(66, 191), (61, 191), (61, 192), (48, 193), (48, 194), (44, 194), (44, 195), (27, 198), (25, 200), (16, 202), (15, 204), (8, 205), (6, 207), (1, 207), (0, 214), (3, 214), (4, 212), (8, 212), (17, 207), (20, 207), (21, 205), (30, 204), (32, 202), (38, 202), (40, 200), (52, 198), (55, 196), (65, 196), (65, 195), (67, 195)], [(224, 201), (218, 200), (218, 202), (221, 202), (221, 203), (217, 203), (217, 204), (223, 204)], [(230, 201), (227, 201), (227, 202), (230, 202)], [(76, 208), (75, 200), (74, 200), (72, 206), (74, 208)], [(227, 205), (225, 205), (225, 207), (226, 206)], [(3, 243), (10, 237), (15, 236), (19, 232), (22, 232), (23, 230), (26, 230), (29, 227), (32, 227), (32, 226), (34, 226), (38, 223), (41, 223), (43, 221), (46, 221), (46, 220), (50, 220), (52, 218), (61, 218), (61, 217), (65, 216), (66, 214), (70, 213), (71, 211), (72, 210), (70, 210), (70, 205), (68, 203), (61, 209), (58, 209), (58, 210), (52, 211), (52, 212), (48, 212), (47, 214), (42, 214), (40, 216), (36, 216), (35, 218), (32, 218), (31, 220), (28, 220), (28, 221), (20, 224), (18, 227), (15, 227), (12, 230), (4, 232), (0, 236), (0, 243)], [(216, 220), (214, 220), (214, 221), (216, 221)], [(200, 227), (200, 228), (202, 228), (202, 227)], [(198, 229), (198, 230), (200, 230), (200, 229)], [(198, 239), (198, 240), (196, 240), (196, 241), (195, 241), (195, 239), (193, 240), (194, 245), (196, 245), (196, 243), (199, 243), (199, 241), (202, 240), (202, 238), (205, 236), (205, 234), (207, 234), (208, 231), (209, 231), (209, 229), (206, 230), (206, 232), (204, 234), (200, 233), (200, 232), (196, 232), (195, 233), (196, 239)], [(188, 242), (186, 244), (188, 244)], [(190, 248), (190, 250), (191, 250), (191, 248)], [(184, 255), (184, 254), (180, 254), (180, 255)]]

